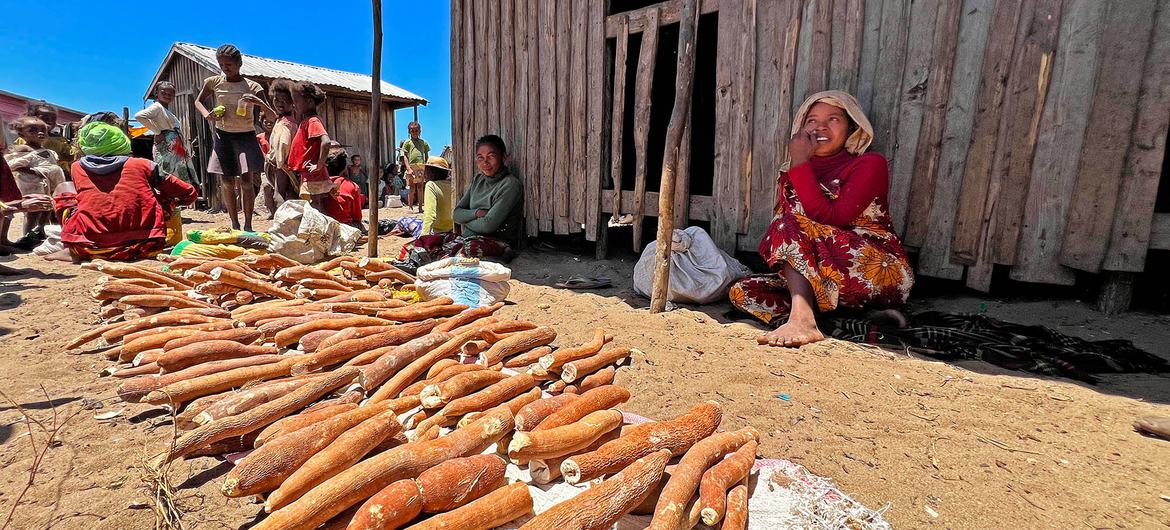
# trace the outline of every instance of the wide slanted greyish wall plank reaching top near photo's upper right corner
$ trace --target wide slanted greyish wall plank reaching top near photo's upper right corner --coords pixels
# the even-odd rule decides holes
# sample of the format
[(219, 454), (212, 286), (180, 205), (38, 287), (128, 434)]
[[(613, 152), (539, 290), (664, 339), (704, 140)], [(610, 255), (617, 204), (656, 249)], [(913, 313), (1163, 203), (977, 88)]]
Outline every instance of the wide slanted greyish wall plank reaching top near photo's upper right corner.
[[(1109, 4), (1101, 36), (1101, 69), (1089, 109), (1088, 130), (1073, 187), (1060, 263), (1095, 273), (1101, 269), (1113, 232), (1121, 168), (1137, 111), (1141, 75), (1156, 14), (1156, 0)], [(1143, 109), (1144, 111), (1145, 109)]]

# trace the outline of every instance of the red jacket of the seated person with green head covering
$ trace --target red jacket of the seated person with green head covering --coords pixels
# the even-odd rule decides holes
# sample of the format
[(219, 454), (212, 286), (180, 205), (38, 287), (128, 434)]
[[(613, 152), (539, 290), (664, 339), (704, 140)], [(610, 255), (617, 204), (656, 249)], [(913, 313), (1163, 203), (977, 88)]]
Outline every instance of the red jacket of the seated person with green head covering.
[(178, 177), (158, 177), (154, 163), (143, 158), (128, 159), (122, 171), (92, 175), (75, 161), (73, 177), (77, 211), (61, 227), (61, 241), (88, 248), (165, 240), (171, 209), (192, 205), (199, 197)]

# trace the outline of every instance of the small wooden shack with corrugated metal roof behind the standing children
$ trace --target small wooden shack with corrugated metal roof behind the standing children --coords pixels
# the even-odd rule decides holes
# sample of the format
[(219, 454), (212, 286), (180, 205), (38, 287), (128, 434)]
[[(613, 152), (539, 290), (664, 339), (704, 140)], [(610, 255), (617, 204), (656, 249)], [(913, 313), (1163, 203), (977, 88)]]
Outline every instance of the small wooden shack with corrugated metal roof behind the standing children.
[[(372, 151), (373, 146), (370, 145), (370, 76), (248, 54), (243, 55), (243, 67), (240, 73), (266, 89), (273, 80), (281, 77), (317, 84), (328, 94), (328, 99), (319, 110), (319, 115), (325, 123), (325, 129), (329, 130), (329, 136), (346, 145), (351, 153), (367, 154)], [(199, 90), (202, 89), (204, 80), (216, 74), (219, 74), (219, 66), (215, 62), (215, 48), (176, 42), (171, 46), (171, 50), (163, 60), (163, 64), (158, 67), (158, 71), (143, 95), (144, 99), (150, 98), (151, 90), (159, 81), (174, 83), (177, 97), (171, 110), (183, 122), (183, 133), (199, 158), (195, 166), (200, 172), (207, 167), (212, 137), (211, 129), (207, 126), (207, 122), (199, 116), (194, 102)], [(385, 81), (381, 82), (381, 137), (386, 142), (378, 149), (383, 160), (392, 160), (395, 146), (394, 110), (426, 105), (427, 101)], [(374, 168), (370, 171), (371, 174), (376, 174)], [(218, 183), (215, 179), (206, 178), (204, 181), (207, 187), (204, 190), (204, 195), (207, 197), (213, 207), (218, 206), (219, 195), (214, 192), (214, 186)]]

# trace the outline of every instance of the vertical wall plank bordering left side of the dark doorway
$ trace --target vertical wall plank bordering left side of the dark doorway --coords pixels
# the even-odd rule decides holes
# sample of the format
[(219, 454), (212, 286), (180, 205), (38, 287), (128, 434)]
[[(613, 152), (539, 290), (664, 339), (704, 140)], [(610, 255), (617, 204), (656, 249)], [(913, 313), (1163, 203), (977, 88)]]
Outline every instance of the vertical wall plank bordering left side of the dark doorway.
[(586, 158), (586, 186), (585, 186), (585, 240), (596, 241), (598, 221), (601, 218), (601, 168), (605, 159), (601, 156), (601, 142), (605, 137), (605, 99), (606, 83), (605, 63), (608, 60), (605, 44), (605, 2), (591, 1), (589, 4), (589, 43), (585, 55), (589, 56), (589, 90), (587, 90), (587, 158)]

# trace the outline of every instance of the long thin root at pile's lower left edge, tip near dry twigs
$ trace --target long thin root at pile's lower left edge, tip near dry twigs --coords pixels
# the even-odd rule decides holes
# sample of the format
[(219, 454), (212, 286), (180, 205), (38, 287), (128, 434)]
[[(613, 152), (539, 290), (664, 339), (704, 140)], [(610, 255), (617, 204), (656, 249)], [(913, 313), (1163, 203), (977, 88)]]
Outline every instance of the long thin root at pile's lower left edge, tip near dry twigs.
[(357, 370), (337, 370), (256, 408), (188, 431), (176, 440), (171, 450), (165, 455), (165, 460), (171, 461), (199, 447), (261, 429), (294, 411), (304, 408), (305, 405), (337, 387), (349, 384), (356, 377)]

